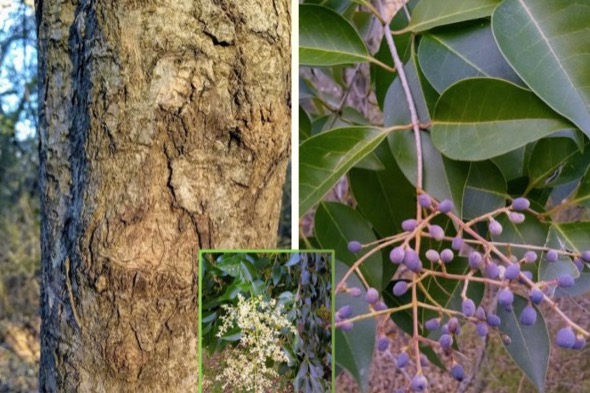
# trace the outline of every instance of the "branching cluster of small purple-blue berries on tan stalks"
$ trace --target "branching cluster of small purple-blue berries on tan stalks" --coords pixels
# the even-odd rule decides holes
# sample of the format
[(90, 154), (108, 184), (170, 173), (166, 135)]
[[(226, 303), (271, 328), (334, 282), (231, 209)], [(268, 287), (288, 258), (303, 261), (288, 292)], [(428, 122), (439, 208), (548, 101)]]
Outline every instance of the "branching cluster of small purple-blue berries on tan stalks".
[[(575, 277), (564, 273), (555, 279), (533, 281), (530, 267), (541, 260), (553, 263), (570, 259), (578, 270), (582, 271), (585, 264), (590, 262), (590, 251), (577, 252), (546, 246), (494, 241), (494, 238), (504, 231), (500, 223), (502, 220), (499, 220), (502, 215), (515, 225), (523, 223), (527, 215), (538, 215), (531, 209), (529, 200), (524, 197), (512, 200), (509, 206), (466, 222), (453, 214), (454, 206), (449, 200), (437, 202), (430, 195), (421, 193), (417, 203), (417, 217), (403, 221), (402, 233), (370, 244), (362, 244), (356, 240), (348, 243), (348, 250), (352, 253), (359, 253), (366, 248), (372, 249), (357, 260), (336, 288), (338, 292), (353, 297), (361, 296), (363, 291), (360, 288), (346, 285), (346, 279), (353, 271), (367, 286), (365, 300), (369, 305), (369, 313), (354, 316), (353, 309), (349, 305), (337, 311), (336, 327), (344, 331), (351, 330), (357, 320), (376, 315), (391, 315), (404, 310), (412, 311), (414, 331), (410, 343), (401, 353), (395, 354), (395, 363), (398, 368), (403, 369), (412, 361), (416, 368), (415, 375), (409, 378), (405, 389), (423, 392), (428, 388), (428, 380), (422, 370), (427, 360), (420, 352), (420, 345), (430, 345), (438, 349), (444, 355), (443, 359), (448, 361), (453, 378), (458, 381), (463, 380), (465, 369), (456, 356), (458, 347), (455, 344), (462, 325), (473, 324), (477, 335), (481, 337), (497, 331), (502, 320), (495, 310), (497, 308), (512, 310), (515, 294), (527, 299), (527, 305), (522, 308), (518, 318), (523, 328), (537, 323), (537, 306), (546, 303), (563, 319), (564, 326), (555, 336), (555, 343), (559, 347), (568, 349), (584, 347), (589, 333), (571, 321), (551, 298), (555, 288), (568, 288), (575, 285)], [(454, 227), (452, 236), (447, 235), (440, 225), (434, 223), (437, 217), (436, 222), (441, 222), (439, 220), (441, 215), (446, 216), (452, 223)], [(482, 225), (485, 226), (485, 230), (482, 230)], [(430, 240), (425, 241), (425, 239)], [(428, 244), (429, 248), (425, 247), (425, 244)], [(392, 278), (393, 295), (402, 297), (408, 293), (411, 294), (409, 303), (394, 308), (389, 308), (384, 303), (377, 289), (368, 287), (358, 269), (368, 256), (386, 247), (391, 247), (389, 260), (398, 267)], [(452, 263), (464, 264), (465, 269), (461, 270), (464, 274), (448, 272), (448, 266)], [(427, 277), (459, 281), (459, 285), (462, 285), (460, 310), (446, 308), (429, 296), (423, 286)], [(485, 284), (486, 288), (496, 288), (496, 302), (487, 307), (487, 310), (484, 305), (476, 304), (476, 300), (468, 296), (469, 285), (476, 282)], [(426, 300), (419, 300), (417, 296), (419, 291), (424, 294)], [(437, 316), (420, 321), (419, 309), (430, 310)], [(419, 324), (422, 330), (418, 328)], [(389, 338), (378, 338), (379, 351), (389, 351), (390, 348)]]

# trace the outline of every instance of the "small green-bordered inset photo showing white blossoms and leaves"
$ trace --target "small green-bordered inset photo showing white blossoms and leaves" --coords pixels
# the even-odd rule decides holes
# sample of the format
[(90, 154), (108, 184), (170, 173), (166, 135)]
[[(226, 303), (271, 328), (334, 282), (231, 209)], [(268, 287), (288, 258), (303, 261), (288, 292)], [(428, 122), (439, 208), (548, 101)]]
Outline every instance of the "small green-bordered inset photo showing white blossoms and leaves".
[(200, 391), (332, 392), (333, 251), (201, 251)]

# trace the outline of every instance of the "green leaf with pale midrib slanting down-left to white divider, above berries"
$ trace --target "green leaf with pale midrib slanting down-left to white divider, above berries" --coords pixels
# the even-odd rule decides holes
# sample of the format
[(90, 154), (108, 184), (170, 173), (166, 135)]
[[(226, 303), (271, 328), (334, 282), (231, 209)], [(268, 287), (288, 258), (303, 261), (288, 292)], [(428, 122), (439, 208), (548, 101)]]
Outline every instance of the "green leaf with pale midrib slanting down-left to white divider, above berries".
[(388, 131), (340, 128), (312, 136), (299, 149), (299, 212), (303, 216), (350, 168), (371, 153)]

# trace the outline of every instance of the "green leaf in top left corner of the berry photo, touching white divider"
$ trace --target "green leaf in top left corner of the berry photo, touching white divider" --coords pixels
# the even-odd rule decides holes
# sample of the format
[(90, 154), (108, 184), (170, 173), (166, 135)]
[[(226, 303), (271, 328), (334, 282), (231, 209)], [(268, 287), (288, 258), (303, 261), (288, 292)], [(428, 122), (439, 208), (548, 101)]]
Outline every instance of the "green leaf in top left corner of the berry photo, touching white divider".
[(299, 64), (333, 66), (372, 61), (349, 21), (329, 8), (299, 5)]

